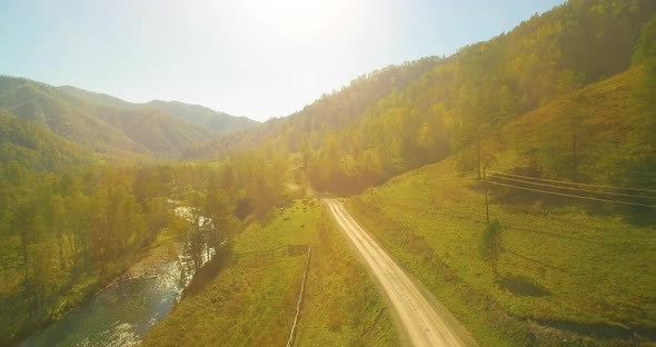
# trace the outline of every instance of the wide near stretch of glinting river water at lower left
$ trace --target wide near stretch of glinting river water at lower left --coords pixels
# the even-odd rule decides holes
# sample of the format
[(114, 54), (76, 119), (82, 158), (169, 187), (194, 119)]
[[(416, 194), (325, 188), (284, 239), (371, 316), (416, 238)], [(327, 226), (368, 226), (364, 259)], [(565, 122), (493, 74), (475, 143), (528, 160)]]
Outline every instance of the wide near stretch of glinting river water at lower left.
[(102, 290), (20, 346), (138, 346), (178, 301), (179, 261)]

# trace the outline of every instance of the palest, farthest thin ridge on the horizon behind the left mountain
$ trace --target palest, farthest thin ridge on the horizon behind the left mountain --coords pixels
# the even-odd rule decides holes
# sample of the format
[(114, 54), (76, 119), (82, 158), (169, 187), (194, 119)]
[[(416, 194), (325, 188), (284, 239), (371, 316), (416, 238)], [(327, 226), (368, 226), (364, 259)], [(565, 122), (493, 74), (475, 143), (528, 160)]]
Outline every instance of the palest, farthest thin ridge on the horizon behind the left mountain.
[(199, 105), (162, 100), (152, 100), (146, 103), (132, 103), (106, 93), (88, 91), (71, 86), (58, 87), (58, 89), (78, 99), (106, 107), (121, 109), (158, 109), (183, 122), (206, 127), (216, 135), (235, 132), (259, 123), (246, 117), (230, 116)]

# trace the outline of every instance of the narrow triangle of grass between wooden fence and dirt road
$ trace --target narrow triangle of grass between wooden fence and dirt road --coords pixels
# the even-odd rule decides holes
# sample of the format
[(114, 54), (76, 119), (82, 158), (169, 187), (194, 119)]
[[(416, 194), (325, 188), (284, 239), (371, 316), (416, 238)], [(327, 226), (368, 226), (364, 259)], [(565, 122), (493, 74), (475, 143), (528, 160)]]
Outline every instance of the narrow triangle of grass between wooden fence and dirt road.
[(321, 208), (297, 346), (397, 346), (380, 294)]

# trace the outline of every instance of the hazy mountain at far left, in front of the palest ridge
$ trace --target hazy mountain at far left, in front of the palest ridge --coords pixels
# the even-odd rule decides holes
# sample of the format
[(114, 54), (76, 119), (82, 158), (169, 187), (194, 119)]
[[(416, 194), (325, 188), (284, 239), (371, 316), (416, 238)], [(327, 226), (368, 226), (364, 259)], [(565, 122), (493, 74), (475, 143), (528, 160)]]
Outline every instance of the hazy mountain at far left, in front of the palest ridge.
[[(173, 115), (163, 107), (135, 105), (108, 95), (23, 78), (0, 77), (0, 109), (101, 153), (172, 158), (217, 133), (183, 121), (180, 113)], [(240, 118), (230, 118), (235, 125), (242, 122)]]

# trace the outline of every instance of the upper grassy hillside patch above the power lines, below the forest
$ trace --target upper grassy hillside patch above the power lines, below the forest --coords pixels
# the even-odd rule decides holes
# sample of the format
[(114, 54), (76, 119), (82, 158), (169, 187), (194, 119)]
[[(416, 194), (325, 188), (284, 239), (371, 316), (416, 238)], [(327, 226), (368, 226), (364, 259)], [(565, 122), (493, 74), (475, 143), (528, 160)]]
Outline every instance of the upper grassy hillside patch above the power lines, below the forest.
[(493, 155), (497, 167), (571, 180), (576, 137), (577, 180), (636, 186), (623, 163), (637, 156), (636, 147), (648, 146), (633, 141), (644, 126), (634, 110), (643, 70), (634, 68), (592, 85), (508, 123), (497, 136), (507, 151)]

